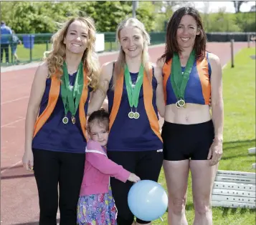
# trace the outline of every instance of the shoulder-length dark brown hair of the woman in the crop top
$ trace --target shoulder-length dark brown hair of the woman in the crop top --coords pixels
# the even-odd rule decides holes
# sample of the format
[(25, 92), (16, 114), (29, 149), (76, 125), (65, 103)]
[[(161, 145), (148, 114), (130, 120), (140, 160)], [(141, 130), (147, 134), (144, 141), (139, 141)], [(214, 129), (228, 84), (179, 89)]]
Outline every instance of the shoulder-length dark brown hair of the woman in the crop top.
[(164, 54), (160, 59), (164, 59), (167, 63), (173, 56), (174, 52), (181, 52), (181, 48), (176, 39), (177, 29), (181, 22), (181, 18), (185, 15), (193, 16), (196, 20), (197, 29), (199, 29), (200, 34), (196, 35), (194, 49), (196, 51), (196, 60), (202, 61), (205, 56), (206, 45), (207, 45), (207, 35), (204, 32), (202, 19), (199, 11), (193, 7), (181, 7), (177, 9), (171, 16), (167, 24), (166, 29), (166, 49)]

